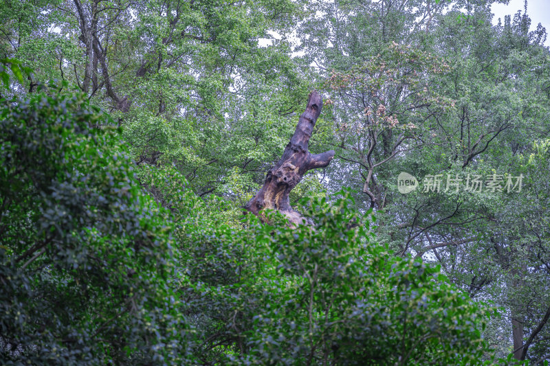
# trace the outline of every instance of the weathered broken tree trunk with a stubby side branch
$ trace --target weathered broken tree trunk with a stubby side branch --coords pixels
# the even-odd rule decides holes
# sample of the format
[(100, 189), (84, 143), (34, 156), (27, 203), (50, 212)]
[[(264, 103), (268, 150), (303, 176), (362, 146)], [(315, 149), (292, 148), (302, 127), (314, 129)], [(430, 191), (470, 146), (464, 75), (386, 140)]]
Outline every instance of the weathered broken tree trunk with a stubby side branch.
[(290, 206), (289, 193), (302, 180), (305, 172), (325, 168), (334, 157), (334, 150), (311, 154), (307, 144), (321, 113), (322, 97), (316, 91), (309, 94), (305, 112), (300, 115), (296, 131), (283, 152), (283, 157), (265, 174), (262, 189), (245, 205), (252, 214), (262, 209), (276, 209), (287, 216), (293, 225), (311, 224)]

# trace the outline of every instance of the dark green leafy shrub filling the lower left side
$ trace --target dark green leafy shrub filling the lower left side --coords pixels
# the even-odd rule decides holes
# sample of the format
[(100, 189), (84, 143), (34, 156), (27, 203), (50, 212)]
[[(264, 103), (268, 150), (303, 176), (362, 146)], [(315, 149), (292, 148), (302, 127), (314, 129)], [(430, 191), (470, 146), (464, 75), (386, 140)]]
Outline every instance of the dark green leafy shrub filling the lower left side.
[(168, 213), (109, 117), (82, 94), (1, 103), (0, 363), (175, 361)]

